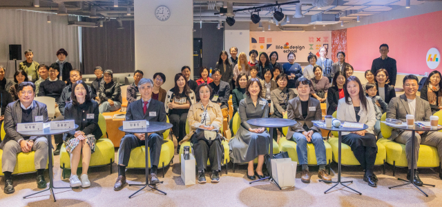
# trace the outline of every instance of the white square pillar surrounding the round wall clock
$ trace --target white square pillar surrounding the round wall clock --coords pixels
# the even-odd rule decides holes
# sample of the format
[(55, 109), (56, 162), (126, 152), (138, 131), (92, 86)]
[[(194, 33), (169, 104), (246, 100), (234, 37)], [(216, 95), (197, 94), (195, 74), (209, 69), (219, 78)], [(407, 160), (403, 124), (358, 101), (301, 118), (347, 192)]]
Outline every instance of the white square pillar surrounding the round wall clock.
[[(135, 70), (152, 78), (163, 72), (169, 90), (182, 66), (193, 68), (193, 1), (135, 0)], [(158, 6), (167, 6), (171, 17), (160, 21), (155, 17)]]

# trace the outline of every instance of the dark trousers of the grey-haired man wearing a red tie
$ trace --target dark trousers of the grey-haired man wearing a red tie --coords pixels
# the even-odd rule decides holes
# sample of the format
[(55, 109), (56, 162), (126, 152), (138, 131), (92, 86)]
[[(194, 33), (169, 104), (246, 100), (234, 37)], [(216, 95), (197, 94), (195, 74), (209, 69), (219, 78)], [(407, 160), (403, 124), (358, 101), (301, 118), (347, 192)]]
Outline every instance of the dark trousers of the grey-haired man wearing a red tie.
[[(131, 150), (139, 146), (144, 146), (144, 144), (144, 140), (138, 139), (135, 135), (124, 135), (123, 139), (119, 142), (118, 164), (127, 166), (129, 164), (129, 158), (131, 158)], [(148, 137), (147, 144), (151, 153), (151, 166), (158, 166), (160, 163), (163, 137), (153, 133)]]

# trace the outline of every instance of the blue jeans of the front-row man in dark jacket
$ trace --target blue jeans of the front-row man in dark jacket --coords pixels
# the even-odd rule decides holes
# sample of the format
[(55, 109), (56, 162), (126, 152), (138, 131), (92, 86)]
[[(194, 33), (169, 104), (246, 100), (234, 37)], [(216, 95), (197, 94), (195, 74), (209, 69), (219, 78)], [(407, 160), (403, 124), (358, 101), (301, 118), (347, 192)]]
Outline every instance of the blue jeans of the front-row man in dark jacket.
[[(292, 139), (296, 141), (296, 152), (298, 153), (299, 164), (307, 164), (307, 138), (302, 135), (302, 133), (295, 132)], [(315, 146), (318, 165), (327, 164), (323, 136), (318, 132), (314, 132), (313, 135), (311, 135), (311, 143)]]

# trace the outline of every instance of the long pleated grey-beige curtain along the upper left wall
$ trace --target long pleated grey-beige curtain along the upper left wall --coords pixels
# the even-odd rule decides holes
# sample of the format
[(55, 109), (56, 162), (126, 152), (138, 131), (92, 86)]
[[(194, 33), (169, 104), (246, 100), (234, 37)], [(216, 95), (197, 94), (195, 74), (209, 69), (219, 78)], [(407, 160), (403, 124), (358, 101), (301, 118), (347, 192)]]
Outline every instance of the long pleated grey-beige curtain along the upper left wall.
[[(48, 23), (48, 15), (51, 22)], [(73, 19), (75, 17), (70, 17)], [(79, 68), (79, 32), (76, 26), (68, 26), (68, 16), (29, 10), (0, 10), (0, 64), (7, 66), (6, 77), (12, 78), (15, 61), (9, 60), (9, 45), (21, 45), (21, 59), (25, 50), (34, 52), (34, 61), (50, 65), (57, 61), (57, 50), (68, 52), (66, 60), (73, 68)]]

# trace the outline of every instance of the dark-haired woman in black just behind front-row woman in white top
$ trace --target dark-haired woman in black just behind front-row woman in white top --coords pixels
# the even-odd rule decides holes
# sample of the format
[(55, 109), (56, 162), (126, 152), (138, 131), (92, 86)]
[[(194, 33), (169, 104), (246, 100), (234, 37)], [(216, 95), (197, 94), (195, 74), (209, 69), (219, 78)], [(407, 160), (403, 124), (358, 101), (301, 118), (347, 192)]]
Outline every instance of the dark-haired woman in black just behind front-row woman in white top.
[(333, 113), (338, 109), (338, 101), (345, 97), (344, 95), (344, 85), (345, 85), (345, 75), (344, 72), (338, 71), (333, 77), (332, 87), (329, 88), (329, 95), (327, 95), (327, 100), (329, 106), (327, 108), (327, 115), (333, 115)]

